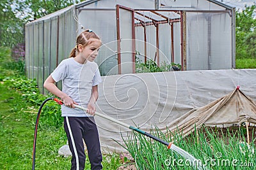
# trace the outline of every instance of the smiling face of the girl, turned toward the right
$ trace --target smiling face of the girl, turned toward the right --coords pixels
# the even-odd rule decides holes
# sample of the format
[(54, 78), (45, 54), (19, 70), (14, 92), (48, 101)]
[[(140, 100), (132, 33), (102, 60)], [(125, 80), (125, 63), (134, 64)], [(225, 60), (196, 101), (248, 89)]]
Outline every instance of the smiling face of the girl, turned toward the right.
[(89, 45), (83, 46), (80, 51), (80, 55), (83, 60), (93, 61), (96, 59), (98, 55), (98, 51), (100, 48), (100, 40), (99, 39), (90, 39), (92, 41)]

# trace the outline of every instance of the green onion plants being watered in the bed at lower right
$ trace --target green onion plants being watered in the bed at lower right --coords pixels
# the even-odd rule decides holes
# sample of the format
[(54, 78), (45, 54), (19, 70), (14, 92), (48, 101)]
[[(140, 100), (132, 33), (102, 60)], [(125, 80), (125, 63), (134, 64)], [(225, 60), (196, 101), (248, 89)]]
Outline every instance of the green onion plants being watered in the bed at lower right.
[[(216, 132), (203, 126), (201, 129), (195, 129), (189, 136), (182, 137), (180, 131), (173, 133), (166, 129), (166, 133), (163, 133), (155, 127), (151, 133), (191, 153), (196, 161), (208, 169), (239, 169), (242, 164), (246, 169), (255, 169), (256, 138), (253, 138), (251, 145), (246, 145), (246, 139), (241, 131)], [(152, 141), (142, 134), (132, 132), (124, 142), (124, 147), (134, 157), (138, 169), (195, 169), (179, 153), (168, 150), (161, 143)]]

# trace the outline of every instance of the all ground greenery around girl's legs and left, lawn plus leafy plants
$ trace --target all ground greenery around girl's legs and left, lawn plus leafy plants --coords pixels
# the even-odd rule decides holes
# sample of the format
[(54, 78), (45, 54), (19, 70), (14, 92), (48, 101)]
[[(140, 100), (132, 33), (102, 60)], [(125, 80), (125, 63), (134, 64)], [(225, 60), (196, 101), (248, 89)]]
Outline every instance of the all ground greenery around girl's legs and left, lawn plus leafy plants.
[[(22, 64), (10, 58), (10, 50), (0, 47), (0, 169), (31, 169), (35, 120), (40, 103), (34, 80), (22, 75)], [(71, 158), (58, 155), (67, 143), (60, 106), (49, 101), (40, 115), (36, 141), (36, 169), (70, 169)], [(121, 165), (117, 154), (103, 155), (104, 169)], [(90, 169), (86, 157), (85, 169)]]

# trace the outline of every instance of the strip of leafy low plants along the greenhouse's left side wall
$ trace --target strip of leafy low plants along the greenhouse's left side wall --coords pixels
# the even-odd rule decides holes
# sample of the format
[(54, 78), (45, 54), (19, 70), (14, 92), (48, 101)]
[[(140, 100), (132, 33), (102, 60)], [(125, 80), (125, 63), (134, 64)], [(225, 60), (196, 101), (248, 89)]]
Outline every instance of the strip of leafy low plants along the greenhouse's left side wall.
[[(13, 60), (10, 48), (0, 46), (0, 81), (3, 81), (6, 87), (17, 90), (22, 95), (24, 103), (39, 108), (40, 104), (53, 95), (44, 96), (40, 94), (36, 80), (31, 80), (24, 76), (24, 60)], [(47, 102), (42, 110), (40, 124), (54, 127), (62, 127), (62, 118), (60, 105), (55, 102)]]

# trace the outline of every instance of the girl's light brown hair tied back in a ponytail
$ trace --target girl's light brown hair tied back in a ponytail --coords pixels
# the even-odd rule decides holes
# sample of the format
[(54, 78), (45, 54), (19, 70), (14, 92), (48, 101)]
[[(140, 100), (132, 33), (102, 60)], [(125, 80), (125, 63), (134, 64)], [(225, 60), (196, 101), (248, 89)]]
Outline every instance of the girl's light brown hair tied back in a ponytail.
[(86, 29), (85, 31), (81, 32), (81, 34), (79, 34), (79, 36), (76, 38), (76, 47), (72, 49), (69, 57), (76, 57), (76, 52), (79, 52), (78, 45), (90, 45), (90, 43), (92, 43), (92, 41), (90, 41), (91, 38), (100, 40), (99, 36), (90, 29)]

